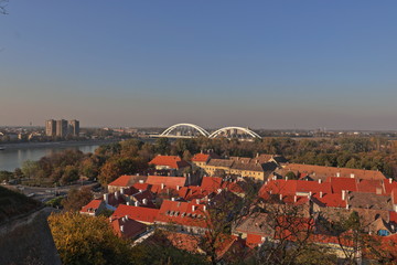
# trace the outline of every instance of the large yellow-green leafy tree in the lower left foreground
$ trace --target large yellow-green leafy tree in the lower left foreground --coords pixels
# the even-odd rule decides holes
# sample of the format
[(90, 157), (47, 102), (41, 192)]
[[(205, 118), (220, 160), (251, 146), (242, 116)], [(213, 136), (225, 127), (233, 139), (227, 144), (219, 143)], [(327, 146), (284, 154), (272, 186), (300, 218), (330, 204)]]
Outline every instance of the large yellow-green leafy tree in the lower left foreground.
[(63, 264), (132, 264), (128, 241), (105, 216), (65, 212), (51, 214), (49, 224)]

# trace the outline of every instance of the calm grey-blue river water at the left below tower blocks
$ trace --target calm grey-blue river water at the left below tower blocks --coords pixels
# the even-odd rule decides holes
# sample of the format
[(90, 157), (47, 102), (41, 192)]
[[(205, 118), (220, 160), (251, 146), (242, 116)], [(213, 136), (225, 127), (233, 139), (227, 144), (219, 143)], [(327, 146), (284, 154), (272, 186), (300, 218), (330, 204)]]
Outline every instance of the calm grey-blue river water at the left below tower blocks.
[(4, 145), (0, 150), (0, 170), (13, 171), (22, 167), (26, 160), (36, 161), (44, 156), (60, 152), (66, 149), (77, 149), (83, 152), (94, 152), (100, 142), (46, 142), (46, 144), (23, 144)]

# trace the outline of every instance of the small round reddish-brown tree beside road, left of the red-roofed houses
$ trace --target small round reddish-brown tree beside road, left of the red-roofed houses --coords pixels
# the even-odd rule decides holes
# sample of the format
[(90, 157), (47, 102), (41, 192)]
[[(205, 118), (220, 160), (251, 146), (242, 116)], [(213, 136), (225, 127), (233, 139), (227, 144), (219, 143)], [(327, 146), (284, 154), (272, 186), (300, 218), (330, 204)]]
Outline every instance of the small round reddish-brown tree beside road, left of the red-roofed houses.
[(66, 211), (79, 211), (92, 200), (93, 193), (89, 187), (83, 187), (81, 190), (71, 189), (62, 201), (62, 205)]

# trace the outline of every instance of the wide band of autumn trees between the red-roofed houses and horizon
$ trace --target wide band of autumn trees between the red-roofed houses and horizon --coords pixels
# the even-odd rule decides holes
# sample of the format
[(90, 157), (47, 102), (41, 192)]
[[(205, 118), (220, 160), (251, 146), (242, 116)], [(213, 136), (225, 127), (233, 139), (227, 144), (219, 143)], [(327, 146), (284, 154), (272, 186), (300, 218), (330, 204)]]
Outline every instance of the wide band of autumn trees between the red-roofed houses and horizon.
[(95, 153), (65, 150), (26, 161), (14, 172), (0, 172), (0, 180), (28, 179), (32, 184), (67, 184), (82, 177), (107, 184), (120, 174), (146, 171), (157, 155), (181, 156), (190, 160), (194, 153), (213, 150), (222, 157), (254, 157), (257, 153), (283, 155), (290, 162), (330, 167), (379, 170), (386, 177), (397, 177), (396, 141), (377, 137), (345, 137), (335, 139), (264, 138), (255, 141), (228, 139), (159, 138), (154, 142), (129, 139), (103, 145)]

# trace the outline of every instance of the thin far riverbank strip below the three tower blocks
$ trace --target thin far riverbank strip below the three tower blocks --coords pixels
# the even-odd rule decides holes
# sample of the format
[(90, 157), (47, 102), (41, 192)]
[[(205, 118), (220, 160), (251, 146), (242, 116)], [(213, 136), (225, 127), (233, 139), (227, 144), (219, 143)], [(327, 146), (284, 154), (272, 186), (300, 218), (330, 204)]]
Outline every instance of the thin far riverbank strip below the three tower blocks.
[(45, 141), (45, 142), (7, 142), (1, 144), (0, 147), (4, 150), (10, 149), (26, 149), (26, 148), (67, 148), (68, 146), (101, 146), (106, 144), (117, 142), (119, 139), (111, 140), (82, 140), (82, 141)]

